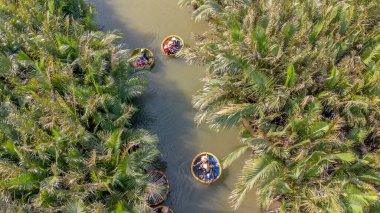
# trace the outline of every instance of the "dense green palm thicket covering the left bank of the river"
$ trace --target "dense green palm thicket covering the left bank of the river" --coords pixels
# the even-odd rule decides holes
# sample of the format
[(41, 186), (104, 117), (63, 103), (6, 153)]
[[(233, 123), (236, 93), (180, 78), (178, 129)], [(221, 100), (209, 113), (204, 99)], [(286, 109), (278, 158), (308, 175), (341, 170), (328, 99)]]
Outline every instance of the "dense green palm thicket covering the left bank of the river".
[(141, 72), (82, 0), (0, 0), (1, 212), (142, 212), (158, 150)]

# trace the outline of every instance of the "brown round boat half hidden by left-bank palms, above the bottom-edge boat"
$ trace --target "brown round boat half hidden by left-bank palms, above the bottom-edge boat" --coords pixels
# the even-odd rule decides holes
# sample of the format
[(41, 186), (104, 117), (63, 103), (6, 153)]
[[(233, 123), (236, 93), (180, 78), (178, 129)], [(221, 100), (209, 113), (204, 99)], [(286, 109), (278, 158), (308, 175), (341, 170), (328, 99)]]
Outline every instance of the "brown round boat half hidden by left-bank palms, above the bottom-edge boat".
[(157, 206), (164, 202), (169, 194), (168, 177), (161, 171), (151, 171), (148, 173), (148, 185), (145, 192), (145, 200), (150, 206)]

